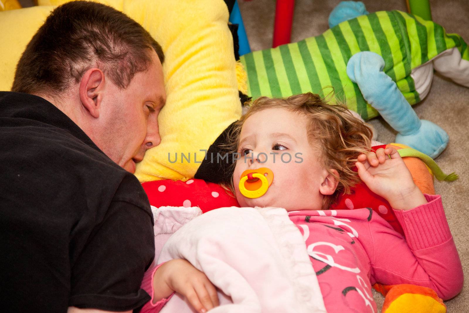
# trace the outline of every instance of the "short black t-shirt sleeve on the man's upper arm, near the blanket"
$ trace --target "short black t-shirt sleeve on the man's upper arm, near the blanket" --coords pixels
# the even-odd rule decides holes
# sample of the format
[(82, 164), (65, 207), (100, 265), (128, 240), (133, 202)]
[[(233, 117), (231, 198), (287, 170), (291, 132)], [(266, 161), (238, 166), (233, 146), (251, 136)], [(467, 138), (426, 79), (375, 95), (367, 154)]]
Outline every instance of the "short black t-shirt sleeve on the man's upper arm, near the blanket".
[(126, 311), (151, 297), (140, 288), (154, 257), (151, 211), (112, 201), (71, 269), (69, 306)]

